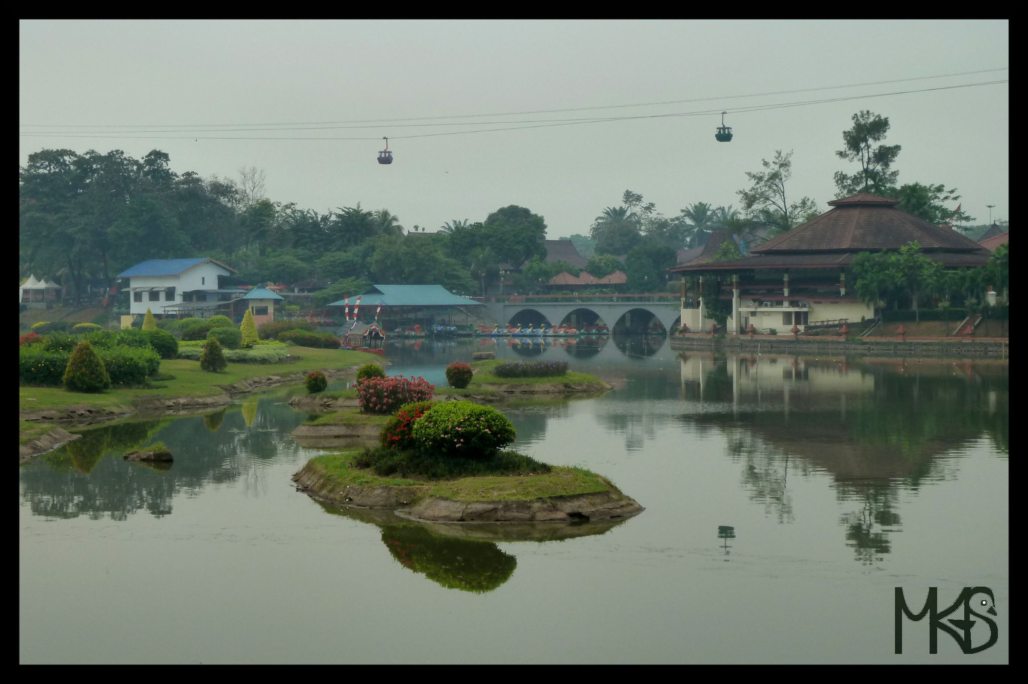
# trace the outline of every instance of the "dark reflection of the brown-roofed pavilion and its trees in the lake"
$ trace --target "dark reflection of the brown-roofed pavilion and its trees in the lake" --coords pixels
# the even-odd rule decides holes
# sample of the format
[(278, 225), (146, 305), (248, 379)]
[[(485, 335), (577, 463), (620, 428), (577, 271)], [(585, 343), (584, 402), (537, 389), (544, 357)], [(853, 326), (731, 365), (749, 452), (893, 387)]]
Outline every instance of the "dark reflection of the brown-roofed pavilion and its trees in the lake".
[(780, 523), (793, 522), (790, 473), (819, 470), (840, 499), (847, 545), (864, 563), (890, 550), (898, 490), (953, 477), (939, 456), (987, 435), (1007, 452), (1005, 367), (909, 359), (681, 357), (682, 420), (719, 428), (742, 485)]

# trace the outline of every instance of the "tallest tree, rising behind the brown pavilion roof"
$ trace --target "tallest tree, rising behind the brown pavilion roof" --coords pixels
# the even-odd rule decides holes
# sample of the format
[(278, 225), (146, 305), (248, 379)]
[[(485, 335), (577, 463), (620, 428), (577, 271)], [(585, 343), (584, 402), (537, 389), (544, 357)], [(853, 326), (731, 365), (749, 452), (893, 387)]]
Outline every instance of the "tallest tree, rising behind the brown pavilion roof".
[(867, 110), (853, 115), (853, 127), (842, 131), (845, 147), (838, 150), (836, 156), (846, 161), (859, 161), (860, 170), (852, 175), (836, 172), (836, 197), (858, 192), (882, 195), (887, 188), (895, 185), (900, 172), (889, 170), (889, 166), (895, 161), (901, 148), (898, 145), (876, 145), (885, 140), (888, 129), (888, 117)]

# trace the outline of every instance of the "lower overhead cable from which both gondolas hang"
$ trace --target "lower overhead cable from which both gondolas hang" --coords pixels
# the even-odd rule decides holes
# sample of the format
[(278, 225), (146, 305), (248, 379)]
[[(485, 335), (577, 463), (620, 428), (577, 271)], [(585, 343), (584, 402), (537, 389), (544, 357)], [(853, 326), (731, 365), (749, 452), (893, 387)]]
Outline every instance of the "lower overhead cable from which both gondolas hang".
[[(829, 104), (836, 102), (847, 102), (852, 100), (864, 100), (872, 98), (884, 98), (897, 94), (911, 94), (916, 92), (931, 92), (939, 90), (951, 90), (955, 88), (967, 88), (977, 87), (982, 85), (996, 85), (1000, 83), (1008, 83), (1009, 79), (998, 79), (992, 81), (981, 81), (976, 83), (962, 83), (957, 85), (940, 85), (930, 88), (917, 88), (909, 90), (895, 90), (892, 92), (877, 92), (870, 94), (854, 94), (845, 96), (840, 98), (823, 98), (819, 100), (807, 100), (798, 101), (791, 103), (776, 103), (767, 105), (748, 105), (742, 107), (736, 107), (732, 109), (727, 109), (730, 114), (746, 114), (750, 112), (769, 111), (773, 109), (784, 109), (791, 107), (807, 107), (811, 105)], [(718, 109), (708, 110), (697, 110), (692, 112), (670, 112), (663, 114), (637, 114), (630, 116), (612, 116), (612, 117), (596, 117), (590, 119), (571, 119), (571, 120), (546, 120), (545, 122), (535, 122), (531, 125), (514, 125), (514, 126), (504, 126), (497, 128), (480, 128), (477, 130), (449, 130), (441, 132), (432, 134), (411, 134), (408, 136), (390, 136), (394, 140), (411, 140), (415, 138), (435, 138), (440, 136), (463, 136), (470, 134), (481, 134), (481, 132), (498, 132), (504, 130), (523, 130), (528, 128), (547, 128), (554, 126), (568, 126), (568, 125), (582, 125), (586, 123), (605, 123), (612, 121), (629, 121), (629, 120), (640, 120), (640, 119), (658, 119), (658, 118), (670, 118), (670, 117), (688, 117), (688, 116), (707, 116), (713, 113), (718, 113)], [(488, 122), (488, 124), (498, 123), (520, 123), (520, 122)], [(411, 124), (415, 125), (415, 124)], [(430, 125), (430, 124), (416, 124), (416, 125)], [(479, 122), (463, 122), (457, 124), (432, 124), (432, 125), (481, 125)], [(340, 126), (346, 127), (346, 126)], [(361, 126), (364, 127), (364, 126)], [(390, 127), (387, 125), (372, 126), (376, 128)], [(404, 127), (404, 126), (393, 126), (393, 127)], [(273, 130), (272, 130), (273, 131)], [(185, 131), (176, 131), (185, 132)], [(203, 132), (224, 132), (224, 131), (203, 131)], [(31, 131), (31, 132), (20, 132), (19, 136), (26, 138), (103, 138), (103, 139), (122, 139), (122, 140), (188, 140), (190, 138), (194, 140), (265, 140), (265, 141), (295, 141), (295, 140), (319, 140), (319, 141), (370, 141), (370, 140), (380, 140), (380, 137), (325, 137), (325, 136), (279, 136), (279, 137), (267, 137), (267, 136), (201, 136), (201, 135), (185, 135), (185, 136), (153, 136), (148, 131), (128, 131), (127, 134), (121, 135), (93, 135), (93, 134), (82, 134), (82, 132), (50, 132), (50, 131)]]

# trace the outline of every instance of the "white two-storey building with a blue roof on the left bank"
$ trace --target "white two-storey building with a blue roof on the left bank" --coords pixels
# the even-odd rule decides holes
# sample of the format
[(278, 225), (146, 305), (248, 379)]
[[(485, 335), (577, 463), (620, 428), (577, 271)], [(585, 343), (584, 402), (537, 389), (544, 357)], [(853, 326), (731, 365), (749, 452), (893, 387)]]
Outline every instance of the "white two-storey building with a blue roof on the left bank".
[(189, 309), (187, 315), (207, 317), (205, 313), (225, 308), (219, 302), (230, 302), (244, 294), (243, 290), (222, 289), (218, 281), (220, 276), (235, 272), (206, 257), (151, 259), (136, 264), (116, 277), (122, 282), (128, 281), (128, 312), (134, 316), (144, 315), (150, 309), (154, 316), (161, 318), (166, 315), (177, 316), (180, 312), (185, 313), (183, 309)]

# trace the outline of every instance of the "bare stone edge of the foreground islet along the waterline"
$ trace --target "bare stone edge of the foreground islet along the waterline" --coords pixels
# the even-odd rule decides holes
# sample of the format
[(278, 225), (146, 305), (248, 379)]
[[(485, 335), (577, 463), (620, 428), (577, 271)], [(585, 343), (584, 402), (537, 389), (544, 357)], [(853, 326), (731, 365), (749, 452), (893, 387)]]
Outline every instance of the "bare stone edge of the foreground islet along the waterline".
[(342, 490), (335, 490), (310, 462), (293, 476), (293, 482), (298, 490), (327, 503), (391, 508), (401, 518), (418, 522), (568, 523), (629, 518), (644, 510), (637, 501), (613, 488), (520, 501), (454, 501), (430, 496), (430, 485), (347, 485)]

